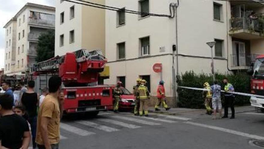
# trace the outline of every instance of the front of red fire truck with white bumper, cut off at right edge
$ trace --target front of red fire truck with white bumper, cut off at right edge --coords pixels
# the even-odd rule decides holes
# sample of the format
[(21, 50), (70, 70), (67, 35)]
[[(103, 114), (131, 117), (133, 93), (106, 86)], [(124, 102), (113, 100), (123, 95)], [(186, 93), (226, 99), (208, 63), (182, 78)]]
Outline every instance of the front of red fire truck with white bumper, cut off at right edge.
[[(251, 64), (248, 74), (252, 75), (251, 93), (264, 96), (264, 54), (256, 57), (256, 61)], [(264, 110), (264, 98), (251, 97), (252, 106)]]

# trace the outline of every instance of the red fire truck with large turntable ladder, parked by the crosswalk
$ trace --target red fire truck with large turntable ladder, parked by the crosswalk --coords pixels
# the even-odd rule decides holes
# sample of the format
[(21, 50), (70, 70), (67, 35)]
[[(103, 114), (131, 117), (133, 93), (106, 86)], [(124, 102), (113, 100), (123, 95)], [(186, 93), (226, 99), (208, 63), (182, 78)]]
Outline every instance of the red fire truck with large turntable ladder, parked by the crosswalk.
[[(111, 86), (97, 85), (99, 73), (104, 71), (106, 62), (101, 50), (89, 52), (81, 49), (30, 65), (30, 75), (39, 89), (41, 83), (47, 82), (52, 75), (61, 77), (64, 113), (98, 114), (99, 111), (113, 109)], [(45, 81), (43, 78), (46, 78)]]

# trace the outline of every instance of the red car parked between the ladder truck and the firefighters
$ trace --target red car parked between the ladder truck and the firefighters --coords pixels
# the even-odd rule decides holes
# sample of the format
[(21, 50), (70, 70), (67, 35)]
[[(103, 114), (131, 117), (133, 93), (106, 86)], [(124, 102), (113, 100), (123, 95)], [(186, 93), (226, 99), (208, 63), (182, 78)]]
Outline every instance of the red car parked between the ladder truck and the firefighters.
[[(132, 111), (136, 105), (135, 96), (128, 89), (121, 87), (123, 95), (121, 95), (121, 100), (119, 101), (119, 110)], [(113, 104), (115, 99), (113, 99)]]

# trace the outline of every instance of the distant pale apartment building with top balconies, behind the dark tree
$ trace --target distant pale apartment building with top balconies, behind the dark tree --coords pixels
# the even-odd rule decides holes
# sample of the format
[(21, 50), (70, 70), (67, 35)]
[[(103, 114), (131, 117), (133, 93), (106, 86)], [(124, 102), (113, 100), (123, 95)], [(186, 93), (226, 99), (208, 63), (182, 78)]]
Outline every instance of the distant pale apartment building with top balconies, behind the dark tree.
[(27, 3), (4, 28), (6, 32), (11, 29), (6, 42), (13, 39), (5, 49), (8, 55), (4, 62), (5, 74), (21, 75), (29, 71), (30, 64), (35, 63), (38, 37), (48, 29), (55, 29), (55, 8)]

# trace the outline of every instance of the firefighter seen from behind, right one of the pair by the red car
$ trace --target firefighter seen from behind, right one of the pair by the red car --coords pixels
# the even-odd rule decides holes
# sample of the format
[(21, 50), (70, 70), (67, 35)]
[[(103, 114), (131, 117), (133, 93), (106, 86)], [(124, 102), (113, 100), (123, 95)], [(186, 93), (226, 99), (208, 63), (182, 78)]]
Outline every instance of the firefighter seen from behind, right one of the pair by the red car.
[(137, 95), (139, 96), (140, 99), (140, 108), (139, 108), (140, 116), (143, 116), (143, 111), (145, 116), (149, 116), (149, 111), (148, 111), (149, 91), (145, 85), (146, 85), (146, 80), (141, 80), (141, 84), (137, 88)]

